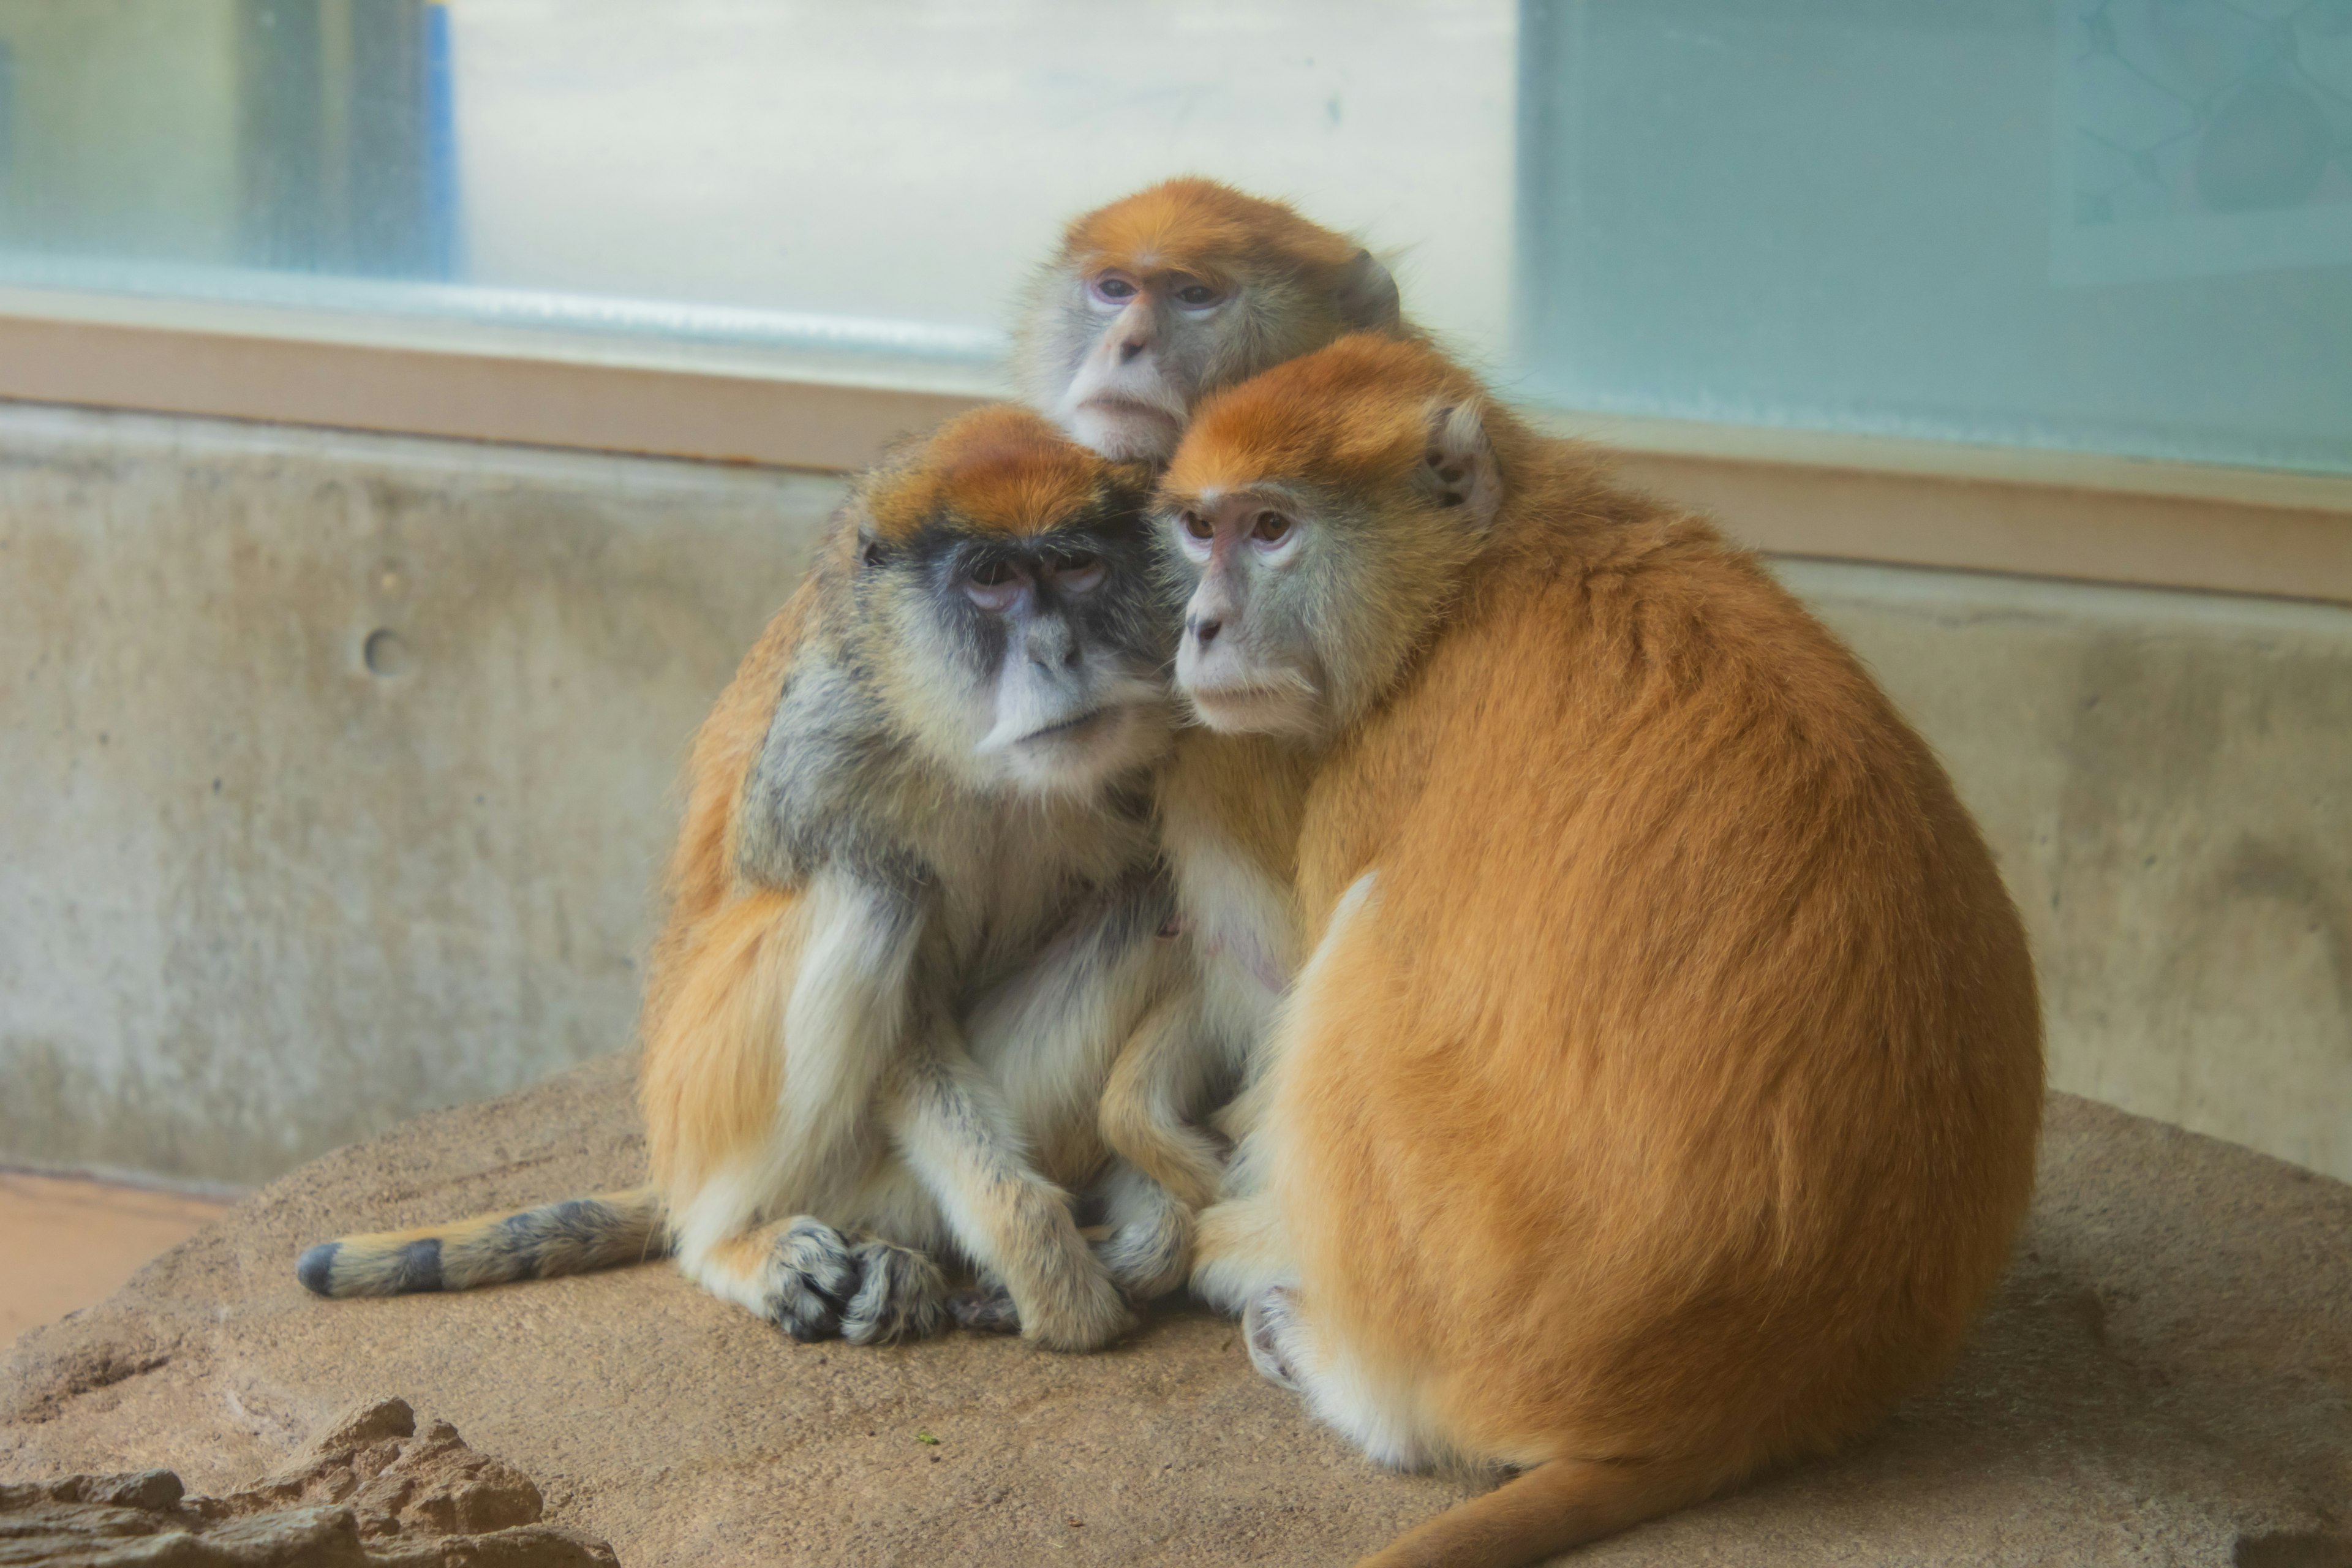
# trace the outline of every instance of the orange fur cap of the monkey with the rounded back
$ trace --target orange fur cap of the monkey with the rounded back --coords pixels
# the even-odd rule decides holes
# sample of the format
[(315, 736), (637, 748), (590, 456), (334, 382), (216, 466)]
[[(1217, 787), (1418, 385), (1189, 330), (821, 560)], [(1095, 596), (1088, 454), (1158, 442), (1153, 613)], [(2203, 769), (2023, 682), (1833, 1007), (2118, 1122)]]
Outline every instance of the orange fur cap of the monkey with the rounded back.
[(1477, 381), (1437, 350), (1357, 331), (1202, 402), (1162, 489), (1202, 496), (1265, 480), (1402, 477), (1428, 449), (1430, 411), (1479, 400)]

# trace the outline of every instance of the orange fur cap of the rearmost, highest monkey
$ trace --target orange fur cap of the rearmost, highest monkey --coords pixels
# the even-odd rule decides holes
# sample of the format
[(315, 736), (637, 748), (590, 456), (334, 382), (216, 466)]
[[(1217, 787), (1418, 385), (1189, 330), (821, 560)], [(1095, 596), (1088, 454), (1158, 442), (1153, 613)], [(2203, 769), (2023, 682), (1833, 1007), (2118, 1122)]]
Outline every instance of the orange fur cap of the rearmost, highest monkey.
[(1282, 256), (1305, 268), (1338, 270), (1357, 244), (1284, 202), (1244, 195), (1214, 179), (1183, 176), (1136, 190), (1075, 219), (1061, 237), (1065, 266), (1157, 273), (1174, 268), (1225, 280), (1235, 261)]

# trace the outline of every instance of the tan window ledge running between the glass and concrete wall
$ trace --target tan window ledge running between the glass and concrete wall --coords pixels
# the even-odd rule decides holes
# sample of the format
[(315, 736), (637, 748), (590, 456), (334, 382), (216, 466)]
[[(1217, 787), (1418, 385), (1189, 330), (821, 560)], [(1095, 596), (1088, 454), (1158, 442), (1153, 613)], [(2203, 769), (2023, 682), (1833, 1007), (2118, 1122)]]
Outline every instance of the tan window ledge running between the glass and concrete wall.
[[(0, 287), (0, 397), (842, 473), (976, 367)], [(1769, 555), (2352, 604), (2352, 477), (1536, 411)]]

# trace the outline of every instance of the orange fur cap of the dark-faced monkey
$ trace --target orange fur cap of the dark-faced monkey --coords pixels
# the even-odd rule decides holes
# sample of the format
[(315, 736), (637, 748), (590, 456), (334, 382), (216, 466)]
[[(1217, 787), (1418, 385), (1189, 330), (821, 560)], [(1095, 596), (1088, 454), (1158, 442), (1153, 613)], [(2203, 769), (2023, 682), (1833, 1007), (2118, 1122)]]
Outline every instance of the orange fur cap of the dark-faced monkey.
[(868, 482), (866, 512), (891, 543), (946, 512), (964, 529), (1023, 538), (1096, 508), (1117, 473), (1044, 416), (1000, 402), (957, 414), (903, 463), (882, 468)]

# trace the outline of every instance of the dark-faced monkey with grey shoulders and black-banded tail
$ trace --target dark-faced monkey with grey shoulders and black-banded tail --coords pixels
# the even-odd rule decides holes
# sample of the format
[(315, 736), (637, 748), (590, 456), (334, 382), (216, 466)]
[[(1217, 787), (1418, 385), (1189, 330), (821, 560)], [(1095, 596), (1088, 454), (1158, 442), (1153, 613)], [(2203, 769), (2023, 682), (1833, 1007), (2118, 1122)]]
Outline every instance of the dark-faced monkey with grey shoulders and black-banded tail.
[(303, 1284), (668, 1248), (797, 1338), (877, 1342), (941, 1326), (924, 1253), (950, 1251), (1028, 1338), (1112, 1338), (1127, 1305), (1049, 1178), (1096, 1175), (1096, 1093), (1164, 966), (1145, 494), (1011, 407), (866, 475), (694, 743), (644, 999), (654, 1185), (332, 1241)]

